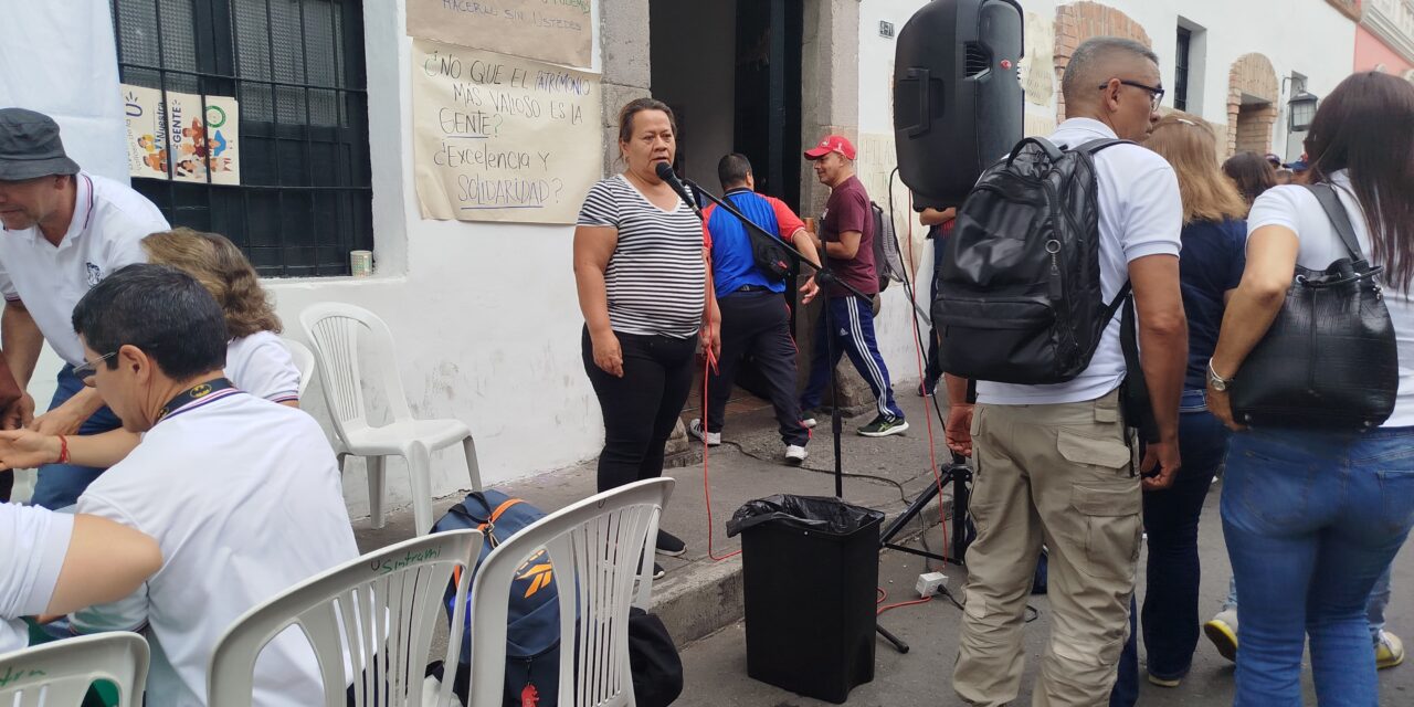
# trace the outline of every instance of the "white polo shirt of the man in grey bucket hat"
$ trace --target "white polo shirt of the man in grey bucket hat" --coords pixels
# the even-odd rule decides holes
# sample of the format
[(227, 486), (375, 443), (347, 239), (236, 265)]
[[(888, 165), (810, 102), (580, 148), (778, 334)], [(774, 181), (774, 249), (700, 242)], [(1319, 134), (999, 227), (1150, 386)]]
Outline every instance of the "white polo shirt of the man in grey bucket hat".
[(74, 221), (54, 246), (40, 228), (0, 233), (0, 294), (24, 301), (54, 352), (83, 363), (74, 332), (74, 307), (119, 267), (146, 263), (143, 238), (167, 230), (167, 219), (124, 184), (88, 173), (75, 175)]

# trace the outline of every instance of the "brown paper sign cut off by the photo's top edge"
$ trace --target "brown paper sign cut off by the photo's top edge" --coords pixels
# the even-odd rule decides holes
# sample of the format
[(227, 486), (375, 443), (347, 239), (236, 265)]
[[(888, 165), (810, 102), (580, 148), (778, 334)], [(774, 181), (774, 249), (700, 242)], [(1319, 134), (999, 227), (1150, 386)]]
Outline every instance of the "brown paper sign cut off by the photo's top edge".
[(588, 66), (592, 0), (407, 0), (407, 35)]

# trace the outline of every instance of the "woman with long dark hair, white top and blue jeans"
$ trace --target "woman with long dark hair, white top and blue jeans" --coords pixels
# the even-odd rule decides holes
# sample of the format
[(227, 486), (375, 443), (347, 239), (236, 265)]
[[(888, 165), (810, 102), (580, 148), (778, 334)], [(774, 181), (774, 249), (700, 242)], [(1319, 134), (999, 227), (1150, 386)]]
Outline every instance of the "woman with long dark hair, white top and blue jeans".
[[(1301, 704), (1301, 658), (1322, 704), (1379, 701), (1366, 601), (1414, 525), (1414, 85), (1356, 74), (1321, 103), (1307, 136), (1312, 184), (1331, 185), (1360, 250), (1383, 267), (1394, 324), (1393, 414), (1363, 433), (1263, 427), (1233, 419), (1227, 382), (1263, 339), (1295, 266), (1349, 257), (1315, 194), (1275, 187), (1247, 219), (1247, 266), (1209, 362), (1208, 404), (1234, 430), (1223, 534), (1241, 624), (1234, 704)], [(1355, 314), (1352, 314), (1355, 315)]]

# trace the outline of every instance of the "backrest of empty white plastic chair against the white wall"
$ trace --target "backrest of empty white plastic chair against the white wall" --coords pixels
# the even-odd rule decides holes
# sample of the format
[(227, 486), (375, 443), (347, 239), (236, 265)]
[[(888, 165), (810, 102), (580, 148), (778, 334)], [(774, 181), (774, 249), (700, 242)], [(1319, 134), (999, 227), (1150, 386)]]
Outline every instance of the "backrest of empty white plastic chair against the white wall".
[(368, 411), (363, 406), (363, 373), (359, 369), (359, 335), (365, 335), (368, 351), (375, 356), (387, 396), (393, 420), (411, 420), (403, 395), (403, 382), (397, 378), (397, 358), (393, 354), (393, 335), (376, 314), (352, 304), (320, 303), (300, 312), (300, 324), (305, 337), (314, 344), (320, 361), (320, 375), (324, 380), (324, 400), (329, 406), (334, 428), (344, 437), (344, 430), (368, 427)]

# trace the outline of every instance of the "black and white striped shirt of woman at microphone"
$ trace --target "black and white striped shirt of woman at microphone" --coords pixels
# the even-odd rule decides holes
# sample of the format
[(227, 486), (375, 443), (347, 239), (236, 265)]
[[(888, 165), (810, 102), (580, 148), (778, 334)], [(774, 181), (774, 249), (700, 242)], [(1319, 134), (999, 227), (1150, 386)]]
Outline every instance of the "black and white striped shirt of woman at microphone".
[(614, 331), (680, 339), (697, 334), (707, 264), (701, 221), (686, 204), (663, 211), (615, 174), (590, 188), (577, 223), (618, 229), (604, 273)]

